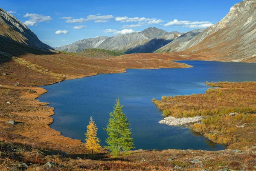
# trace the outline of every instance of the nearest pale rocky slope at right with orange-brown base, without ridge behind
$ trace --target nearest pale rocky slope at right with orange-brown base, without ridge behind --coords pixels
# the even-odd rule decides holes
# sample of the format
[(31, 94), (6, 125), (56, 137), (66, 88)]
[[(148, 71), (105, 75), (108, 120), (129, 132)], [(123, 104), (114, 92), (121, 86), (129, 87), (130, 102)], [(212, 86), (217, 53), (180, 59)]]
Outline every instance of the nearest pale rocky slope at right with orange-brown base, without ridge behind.
[(188, 51), (211, 56), (212, 60), (256, 62), (256, 0), (235, 4), (229, 14), (207, 36)]

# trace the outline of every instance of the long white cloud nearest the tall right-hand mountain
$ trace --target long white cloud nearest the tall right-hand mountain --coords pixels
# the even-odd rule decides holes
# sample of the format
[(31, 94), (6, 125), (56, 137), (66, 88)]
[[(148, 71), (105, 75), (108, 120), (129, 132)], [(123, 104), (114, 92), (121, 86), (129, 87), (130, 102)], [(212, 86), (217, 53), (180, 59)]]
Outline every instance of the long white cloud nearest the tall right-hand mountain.
[(206, 28), (212, 26), (212, 23), (209, 21), (179, 21), (173, 20), (169, 23), (163, 24), (163, 26), (183, 26), (187, 28)]

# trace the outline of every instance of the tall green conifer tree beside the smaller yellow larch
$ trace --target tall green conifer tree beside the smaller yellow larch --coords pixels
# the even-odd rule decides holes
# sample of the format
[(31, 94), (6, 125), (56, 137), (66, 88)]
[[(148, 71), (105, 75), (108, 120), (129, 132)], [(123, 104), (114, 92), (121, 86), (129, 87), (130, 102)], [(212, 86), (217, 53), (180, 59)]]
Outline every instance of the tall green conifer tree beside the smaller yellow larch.
[(123, 113), (119, 99), (116, 100), (116, 104), (113, 112), (110, 113), (108, 120), (107, 131), (108, 138), (106, 143), (108, 146), (105, 148), (111, 151), (112, 155), (119, 155), (122, 151), (129, 151), (134, 148), (134, 139), (131, 137), (130, 123)]

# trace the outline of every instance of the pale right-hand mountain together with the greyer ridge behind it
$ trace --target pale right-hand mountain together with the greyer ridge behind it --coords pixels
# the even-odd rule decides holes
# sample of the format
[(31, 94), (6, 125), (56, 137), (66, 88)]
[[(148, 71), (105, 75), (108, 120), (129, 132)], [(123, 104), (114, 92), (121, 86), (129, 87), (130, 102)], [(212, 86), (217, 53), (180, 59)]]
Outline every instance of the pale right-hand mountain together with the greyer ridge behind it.
[(156, 52), (192, 51), (211, 60), (256, 60), (256, 0), (243, 0), (215, 25), (199, 34), (186, 33)]

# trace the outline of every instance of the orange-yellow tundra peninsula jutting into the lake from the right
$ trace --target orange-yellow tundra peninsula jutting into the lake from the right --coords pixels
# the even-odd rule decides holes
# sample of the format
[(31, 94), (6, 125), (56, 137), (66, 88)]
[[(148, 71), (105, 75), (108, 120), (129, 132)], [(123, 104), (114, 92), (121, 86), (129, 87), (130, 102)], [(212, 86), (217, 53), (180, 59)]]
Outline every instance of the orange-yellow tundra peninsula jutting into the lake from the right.
[(164, 116), (204, 116), (190, 128), (228, 148), (246, 149), (256, 145), (256, 82), (206, 83), (205, 94), (162, 97), (153, 102)]

